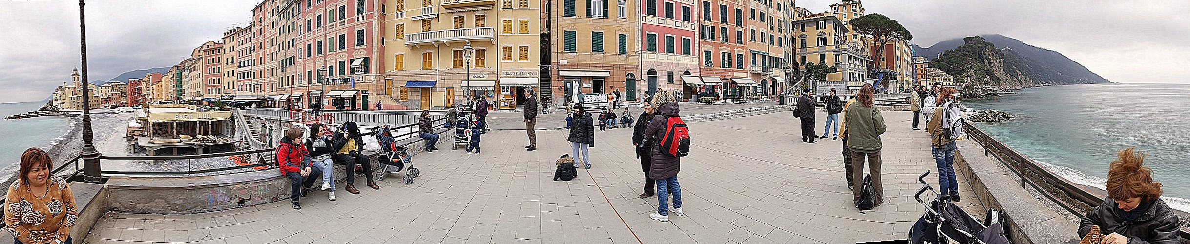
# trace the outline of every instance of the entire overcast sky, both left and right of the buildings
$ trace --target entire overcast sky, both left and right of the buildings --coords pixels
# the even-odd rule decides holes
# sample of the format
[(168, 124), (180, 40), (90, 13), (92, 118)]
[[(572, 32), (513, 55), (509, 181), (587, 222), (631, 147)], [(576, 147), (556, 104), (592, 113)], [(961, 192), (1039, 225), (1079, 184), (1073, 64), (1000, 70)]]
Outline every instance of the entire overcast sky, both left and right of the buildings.
[[(90, 0), (89, 79), (169, 67), (231, 26), (257, 0)], [(823, 12), (838, 0), (797, 0)], [(1190, 83), (1186, 0), (869, 0), (868, 13), (896, 19), (922, 46), (1001, 33), (1054, 50), (1114, 82)], [(79, 67), (79, 6), (70, 0), (0, 2), (0, 104), (40, 100)]]

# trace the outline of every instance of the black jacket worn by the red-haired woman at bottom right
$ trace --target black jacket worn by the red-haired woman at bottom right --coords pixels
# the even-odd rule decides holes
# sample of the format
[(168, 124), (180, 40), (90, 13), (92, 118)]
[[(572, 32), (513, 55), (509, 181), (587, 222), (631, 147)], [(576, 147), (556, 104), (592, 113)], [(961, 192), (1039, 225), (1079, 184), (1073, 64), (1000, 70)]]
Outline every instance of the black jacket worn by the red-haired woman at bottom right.
[(1084, 237), (1091, 231), (1091, 225), (1098, 225), (1103, 234), (1120, 233), (1128, 237), (1128, 244), (1179, 244), (1178, 215), (1170, 211), (1165, 201), (1158, 199), (1135, 220), (1127, 220), (1116, 214), (1116, 202), (1104, 199), (1083, 217), (1078, 225), (1078, 236)]

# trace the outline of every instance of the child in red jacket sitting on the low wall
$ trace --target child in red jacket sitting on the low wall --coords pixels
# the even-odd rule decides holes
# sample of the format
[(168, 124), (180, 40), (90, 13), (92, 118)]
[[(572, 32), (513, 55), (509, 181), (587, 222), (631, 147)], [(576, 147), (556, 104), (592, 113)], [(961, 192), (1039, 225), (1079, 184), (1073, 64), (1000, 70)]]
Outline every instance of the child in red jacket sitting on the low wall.
[[(289, 129), (286, 131), (286, 137), (281, 138), (281, 145), (277, 145), (277, 167), (280, 167), (281, 174), (293, 181), (293, 186), (289, 188), (289, 202), (294, 205), (294, 209), (301, 209), (298, 195), (306, 196), (309, 193), (309, 187), (313, 187), (318, 176), (322, 175), (321, 169), (311, 164), (309, 151), (301, 143), (301, 129)], [(303, 177), (305, 180), (302, 180)]]

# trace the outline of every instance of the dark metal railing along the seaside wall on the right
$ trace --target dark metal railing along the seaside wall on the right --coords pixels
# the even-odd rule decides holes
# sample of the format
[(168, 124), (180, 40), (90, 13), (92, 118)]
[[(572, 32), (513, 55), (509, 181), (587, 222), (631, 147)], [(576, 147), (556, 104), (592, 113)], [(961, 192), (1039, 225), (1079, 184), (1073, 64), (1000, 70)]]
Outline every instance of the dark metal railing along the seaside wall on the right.
[[(964, 121), (963, 130), (966, 130), (967, 137), (984, 148), (985, 156), (996, 157), (1013, 174), (1016, 174), (1021, 179), (1022, 188), (1026, 184), (1033, 187), (1042, 196), (1061, 206), (1076, 217), (1085, 217), (1085, 212), (1091, 211), (1103, 202), (1103, 198), (1084, 190), (1070, 180), (1058, 176), (1036, 161), (1009, 148), (975, 125)], [(1178, 236), (1184, 240), (1183, 243), (1190, 240), (1190, 232), (1185, 227), (1179, 226)]]

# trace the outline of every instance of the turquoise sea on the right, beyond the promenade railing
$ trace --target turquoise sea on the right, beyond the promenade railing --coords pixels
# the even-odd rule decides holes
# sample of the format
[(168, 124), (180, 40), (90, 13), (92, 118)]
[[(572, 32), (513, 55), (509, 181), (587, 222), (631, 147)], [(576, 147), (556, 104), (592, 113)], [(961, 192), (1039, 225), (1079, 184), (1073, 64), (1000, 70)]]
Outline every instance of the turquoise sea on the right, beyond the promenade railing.
[(1016, 119), (978, 124), (1079, 184), (1103, 188), (1116, 151), (1136, 146), (1175, 208), (1190, 211), (1190, 85), (1078, 85), (965, 100)]

